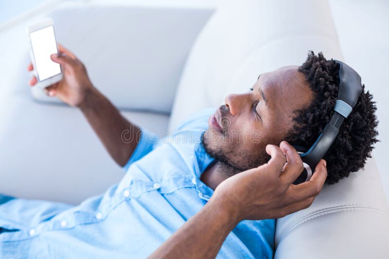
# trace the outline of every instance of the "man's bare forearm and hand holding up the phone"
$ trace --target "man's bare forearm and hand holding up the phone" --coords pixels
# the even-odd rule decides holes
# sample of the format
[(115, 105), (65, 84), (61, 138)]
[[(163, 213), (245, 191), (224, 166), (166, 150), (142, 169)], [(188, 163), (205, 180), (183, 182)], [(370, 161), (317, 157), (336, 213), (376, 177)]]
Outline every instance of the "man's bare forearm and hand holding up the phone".
[[(45, 89), (50, 97), (80, 108), (94, 129), (108, 153), (119, 165), (124, 166), (138, 145), (141, 132), (127, 121), (112, 103), (91, 83), (85, 66), (69, 50), (59, 45), (59, 55), (51, 56), (53, 62), (61, 65), (63, 79)], [(33, 70), (33, 65), (28, 66)], [(36, 84), (36, 78), (30, 85)], [(125, 132), (125, 141), (122, 134)]]

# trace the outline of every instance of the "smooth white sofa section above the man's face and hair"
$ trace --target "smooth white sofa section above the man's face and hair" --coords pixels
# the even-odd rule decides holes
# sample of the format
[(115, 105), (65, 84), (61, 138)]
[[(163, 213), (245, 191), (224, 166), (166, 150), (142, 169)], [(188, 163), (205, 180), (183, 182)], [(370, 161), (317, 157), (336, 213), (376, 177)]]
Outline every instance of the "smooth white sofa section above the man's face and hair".
[(248, 91), (262, 72), (322, 51), (342, 60), (327, 1), (231, 1), (210, 18), (184, 66), (170, 129), (188, 114)]

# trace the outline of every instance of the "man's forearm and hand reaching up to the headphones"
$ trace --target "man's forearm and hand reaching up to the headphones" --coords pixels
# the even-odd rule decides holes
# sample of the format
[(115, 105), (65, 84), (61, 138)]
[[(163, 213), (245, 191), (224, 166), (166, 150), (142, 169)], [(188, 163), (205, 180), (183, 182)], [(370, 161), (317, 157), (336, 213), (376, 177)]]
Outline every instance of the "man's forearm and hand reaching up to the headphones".
[(308, 182), (293, 185), (303, 169), (296, 149), (282, 142), (267, 145), (266, 152), (269, 162), (224, 180), (203, 209), (149, 258), (215, 258), (240, 221), (281, 218), (308, 208), (327, 178), (325, 161)]

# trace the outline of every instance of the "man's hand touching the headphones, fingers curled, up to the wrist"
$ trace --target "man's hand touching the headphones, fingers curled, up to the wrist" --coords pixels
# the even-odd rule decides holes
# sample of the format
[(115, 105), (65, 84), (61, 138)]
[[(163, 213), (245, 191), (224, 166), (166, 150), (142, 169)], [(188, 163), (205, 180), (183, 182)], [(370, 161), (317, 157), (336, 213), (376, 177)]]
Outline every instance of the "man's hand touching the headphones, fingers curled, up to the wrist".
[(327, 178), (326, 164), (321, 160), (309, 181), (294, 185), (304, 168), (296, 149), (283, 141), (280, 147), (267, 145), (266, 152), (271, 155), (269, 162), (224, 180), (212, 195), (237, 223), (281, 218), (308, 208)]

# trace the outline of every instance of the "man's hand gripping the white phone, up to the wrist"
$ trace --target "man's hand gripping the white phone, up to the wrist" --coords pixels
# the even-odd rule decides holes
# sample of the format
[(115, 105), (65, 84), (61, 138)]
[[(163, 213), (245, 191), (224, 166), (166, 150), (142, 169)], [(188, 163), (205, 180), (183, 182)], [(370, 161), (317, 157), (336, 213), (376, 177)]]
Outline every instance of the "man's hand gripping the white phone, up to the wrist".
[[(58, 97), (63, 102), (71, 106), (79, 106), (86, 95), (93, 89), (88, 78), (87, 69), (76, 56), (68, 49), (58, 45), (59, 54), (52, 54), (50, 58), (53, 62), (61, 65), (63, 78), (61, 81), (45, 88), (45, 92), (50, 97)], [(29, 71), (33, 70), (33, 65), (28, 65)], [(35, 76), (29, 84), (34, 86), (37, 80)]]

